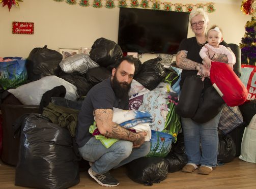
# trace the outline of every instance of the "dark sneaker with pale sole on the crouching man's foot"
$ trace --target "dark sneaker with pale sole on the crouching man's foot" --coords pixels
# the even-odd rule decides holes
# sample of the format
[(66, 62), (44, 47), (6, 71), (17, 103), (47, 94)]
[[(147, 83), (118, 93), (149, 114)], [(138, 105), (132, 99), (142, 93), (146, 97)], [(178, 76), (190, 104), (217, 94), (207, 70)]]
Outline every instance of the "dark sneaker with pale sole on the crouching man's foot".
[(89, 175), (102, 186), (118, 186), (119, 181), (112, 177), (109, 172), (103, 174), (93, 174), (92, 168), (88, 170)]

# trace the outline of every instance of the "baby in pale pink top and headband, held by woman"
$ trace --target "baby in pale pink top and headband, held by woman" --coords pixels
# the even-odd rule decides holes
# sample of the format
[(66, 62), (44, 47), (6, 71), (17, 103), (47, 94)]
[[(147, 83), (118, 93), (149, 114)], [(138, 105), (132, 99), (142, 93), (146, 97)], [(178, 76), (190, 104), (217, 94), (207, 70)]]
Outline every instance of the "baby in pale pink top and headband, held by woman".
[[(207, 67), (211, 67), (211, 61), (215, 54), (225, 54), (227, 56), (229, 66), (233, 69), (233, 65), (236, 62), (233, 53), (223, 45), (219, 45), (223, 41), (222, 31), (216, 25), (213, 25), (207, 32), (207, 44), (202, 47), (200, 56), (203, 59), (203, 64)], [(226, 63), (226, 62), (225, 62)]]

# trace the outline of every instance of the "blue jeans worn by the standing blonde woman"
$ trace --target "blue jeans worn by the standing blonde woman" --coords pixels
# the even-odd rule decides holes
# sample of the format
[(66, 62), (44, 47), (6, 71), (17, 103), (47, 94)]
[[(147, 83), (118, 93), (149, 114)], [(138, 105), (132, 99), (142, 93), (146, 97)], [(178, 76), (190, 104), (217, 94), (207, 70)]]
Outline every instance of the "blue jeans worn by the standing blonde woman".
[(190, 118), (181, 118), (188, 163), (216, 167), (219, 142), (217, 128), (220, 114), (221, 111), (206, 123), (197, 123)]

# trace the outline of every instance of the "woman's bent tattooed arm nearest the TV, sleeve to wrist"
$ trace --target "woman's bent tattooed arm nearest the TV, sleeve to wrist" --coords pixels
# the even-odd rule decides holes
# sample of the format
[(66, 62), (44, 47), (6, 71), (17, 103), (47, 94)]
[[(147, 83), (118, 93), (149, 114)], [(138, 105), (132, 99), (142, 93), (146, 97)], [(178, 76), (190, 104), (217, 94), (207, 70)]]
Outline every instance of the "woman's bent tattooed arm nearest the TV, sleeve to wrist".
[(187, 59), (187, 53), (188, 51), (185, 50), (181, 50), (177, 53), (177, 56), (179, 56), (177, 59), (179, 62), (179, 67), (184, 70), (196, 70), (198, 63)]

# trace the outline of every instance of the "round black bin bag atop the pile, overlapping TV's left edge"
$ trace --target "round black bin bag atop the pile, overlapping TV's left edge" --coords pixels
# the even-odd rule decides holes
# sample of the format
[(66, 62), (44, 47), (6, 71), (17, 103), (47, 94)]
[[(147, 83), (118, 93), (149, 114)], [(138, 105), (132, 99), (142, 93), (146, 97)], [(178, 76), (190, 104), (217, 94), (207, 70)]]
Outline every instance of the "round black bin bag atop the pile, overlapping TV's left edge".
[(115, 64), (122, 56), (123, 51), (121, 47), (117, 43), (105, 38), (97, 39), (90, 51), (90, 58), (105, 68)]

